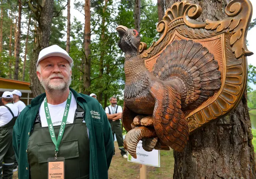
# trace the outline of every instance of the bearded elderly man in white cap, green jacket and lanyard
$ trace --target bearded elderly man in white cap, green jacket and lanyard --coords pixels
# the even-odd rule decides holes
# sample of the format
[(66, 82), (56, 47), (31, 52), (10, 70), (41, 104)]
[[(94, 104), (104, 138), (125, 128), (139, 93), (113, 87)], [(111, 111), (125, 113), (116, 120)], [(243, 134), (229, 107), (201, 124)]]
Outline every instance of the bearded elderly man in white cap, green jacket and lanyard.
[(37, 77), (45, 93), (31, 101), (13, 128), (19, 178), (108, 179), (111, 127), (97, 100), (69, 88), (72, 63), (57, 45), (39, 54)]

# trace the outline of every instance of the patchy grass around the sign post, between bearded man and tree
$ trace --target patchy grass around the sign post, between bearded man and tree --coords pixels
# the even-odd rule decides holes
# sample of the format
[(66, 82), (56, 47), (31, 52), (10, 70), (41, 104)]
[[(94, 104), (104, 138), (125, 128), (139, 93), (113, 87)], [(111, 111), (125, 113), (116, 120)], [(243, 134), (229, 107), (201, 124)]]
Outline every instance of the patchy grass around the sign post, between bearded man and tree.
[[(116, 154), (109, 167), (109, 179), (136, 179), (139, 178), (139, 164), (123, 159), (117, 142), (115, 142)], [(160, 168), (147, 166), (147, 179), (172, 179), (174, 158), (173, 150), (160, 151)]]

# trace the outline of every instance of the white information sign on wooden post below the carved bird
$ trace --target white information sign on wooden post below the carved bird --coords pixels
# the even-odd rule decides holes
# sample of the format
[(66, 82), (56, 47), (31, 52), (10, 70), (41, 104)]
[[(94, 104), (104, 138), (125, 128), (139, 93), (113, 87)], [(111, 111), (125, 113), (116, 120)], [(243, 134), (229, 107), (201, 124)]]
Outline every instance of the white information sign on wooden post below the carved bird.
[(128, 153), (128, 161), (138, 164), (160, 167), (160, 151), (153, 149), (148, 152), (142, 148), (142, 141), (137, 144), (136, 149), (137, 159), (134, 159), (130, 153)]

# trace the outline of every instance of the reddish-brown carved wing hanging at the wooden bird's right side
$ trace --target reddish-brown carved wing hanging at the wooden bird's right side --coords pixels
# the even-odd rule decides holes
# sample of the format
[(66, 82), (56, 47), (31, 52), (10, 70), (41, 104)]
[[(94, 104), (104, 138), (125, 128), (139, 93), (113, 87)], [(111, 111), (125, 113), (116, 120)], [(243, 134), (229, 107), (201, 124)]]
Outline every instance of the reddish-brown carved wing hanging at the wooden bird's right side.
[(189, 138), (189, 126), (181, 110), (180, 94), (168, 85), (156, 82), (151, 93), (156, 99), (154, 129), (160, 139), (176, 151), (182, 151)]

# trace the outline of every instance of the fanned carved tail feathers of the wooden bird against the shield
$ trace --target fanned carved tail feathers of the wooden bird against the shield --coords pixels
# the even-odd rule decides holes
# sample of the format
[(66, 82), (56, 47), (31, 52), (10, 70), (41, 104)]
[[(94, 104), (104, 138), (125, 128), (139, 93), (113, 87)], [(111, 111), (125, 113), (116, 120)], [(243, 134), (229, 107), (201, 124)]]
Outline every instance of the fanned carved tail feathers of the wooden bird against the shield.
[(221, 72), (213, 54), (192, 40), (176, 40), (158, 57), (153, 74), (162, 81), (179, 83), (181, 109), (194, 109), (221, 87)]

